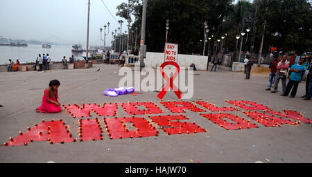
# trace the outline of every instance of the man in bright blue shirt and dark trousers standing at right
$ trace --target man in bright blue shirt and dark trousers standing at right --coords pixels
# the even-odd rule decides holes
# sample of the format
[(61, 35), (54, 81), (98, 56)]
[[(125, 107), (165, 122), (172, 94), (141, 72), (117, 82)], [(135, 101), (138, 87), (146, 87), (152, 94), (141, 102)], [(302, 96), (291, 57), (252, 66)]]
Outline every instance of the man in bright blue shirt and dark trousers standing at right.
[[(291, 97), (295, 97), (299, 82), (301, 80), (301, 72), (304, 71), (304, 66), (302, 66), (303, 63), (304, 58), (300, 59), (299, 63), (291, 66), (291, 69), (289, 70), (292, 71), (291, 78), (288, 81), (286, 91), (282, 96), (288, 96), (288, 94), (291, 92)], [(292, 88), (293, 90), (291, 91)]]

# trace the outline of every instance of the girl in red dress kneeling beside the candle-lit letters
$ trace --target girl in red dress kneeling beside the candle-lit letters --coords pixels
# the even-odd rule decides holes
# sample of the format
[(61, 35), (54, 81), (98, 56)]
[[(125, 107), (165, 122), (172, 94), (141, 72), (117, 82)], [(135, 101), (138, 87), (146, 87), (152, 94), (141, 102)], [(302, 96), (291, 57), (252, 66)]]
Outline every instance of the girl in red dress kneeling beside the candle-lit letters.
[(42, 97), (42, 104), (36, 109), (41, 113), (58, 113), (62, 111), (60, 101), (58, 100), (58, 87), (60, 82), (58, 80), (51, 80), (49, 86), (44, 90)]

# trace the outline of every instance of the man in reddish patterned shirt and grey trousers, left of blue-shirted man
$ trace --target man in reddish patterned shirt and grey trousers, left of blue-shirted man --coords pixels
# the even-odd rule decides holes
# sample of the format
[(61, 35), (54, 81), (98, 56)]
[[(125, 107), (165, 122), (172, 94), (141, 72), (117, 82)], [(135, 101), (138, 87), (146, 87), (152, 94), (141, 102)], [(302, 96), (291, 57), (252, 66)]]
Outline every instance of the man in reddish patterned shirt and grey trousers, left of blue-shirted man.
[(283, 57), (281, 58), (281, 62), (277, 64), (277, 75), (275, 78), (275, 85), (271, 93), (277, 92), (279, 80), (281, 80), (281, 86), (282, 86), (282, 91), (283, 91), (283, 93), (281, 94), (284, 94), (284, 92), (286, 91), (286, 76), (287, 76), (287, 71), (289, 67), (289, 62), (287, 62), (286, 59), (287, 59), (286, 55), (283, 55)]

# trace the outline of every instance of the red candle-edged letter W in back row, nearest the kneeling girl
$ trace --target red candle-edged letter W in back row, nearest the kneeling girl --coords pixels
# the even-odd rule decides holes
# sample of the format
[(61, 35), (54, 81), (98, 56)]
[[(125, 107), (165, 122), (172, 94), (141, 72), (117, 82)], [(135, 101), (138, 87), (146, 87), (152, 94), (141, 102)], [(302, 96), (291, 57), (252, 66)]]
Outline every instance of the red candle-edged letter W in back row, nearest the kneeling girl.
[(73, 105), (64, 106), (73, 118), (83, 118), (91, 116), (91, 111), (94, 111), (99, 116), (114, 116), (117, 113), (118, 104), (110, 103), (106, 104), (104, 102), (103, 106), (99, 104), (82, 104), (78, 106), (76, 103)]

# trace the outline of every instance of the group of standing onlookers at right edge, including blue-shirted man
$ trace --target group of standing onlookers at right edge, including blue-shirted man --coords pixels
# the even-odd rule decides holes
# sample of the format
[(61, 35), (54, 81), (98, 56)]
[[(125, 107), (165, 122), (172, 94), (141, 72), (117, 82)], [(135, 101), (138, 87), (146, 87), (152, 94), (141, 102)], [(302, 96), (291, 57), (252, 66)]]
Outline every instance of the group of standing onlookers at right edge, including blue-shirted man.
[[(305, 95), (302, 96), (304, 100), (311, 100), (312, 92), (312, 68), (311, 57), (302, 55), (292, 55), (290, 61), (287, 61), (288, 56), (281, 53), (280, 56), (274, 55), (272, 62), (270, 62), (270, 74), (268, 81), (268, 88), (266, 91), (277, 93), (279, 81), (281, 80), (281, 96), (295, 97), (297, 88), (302, 81), (304, 73), (307, 73)], [(286, 80), (289, 78), (288, 83)]]

